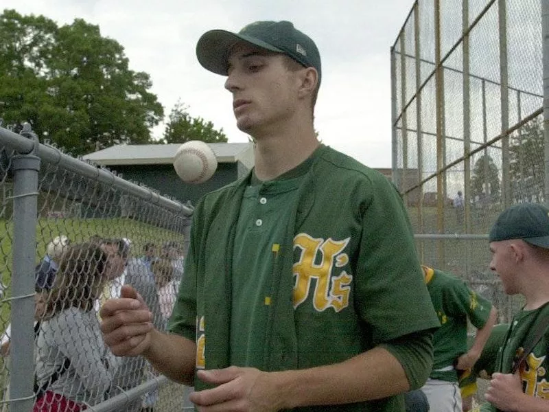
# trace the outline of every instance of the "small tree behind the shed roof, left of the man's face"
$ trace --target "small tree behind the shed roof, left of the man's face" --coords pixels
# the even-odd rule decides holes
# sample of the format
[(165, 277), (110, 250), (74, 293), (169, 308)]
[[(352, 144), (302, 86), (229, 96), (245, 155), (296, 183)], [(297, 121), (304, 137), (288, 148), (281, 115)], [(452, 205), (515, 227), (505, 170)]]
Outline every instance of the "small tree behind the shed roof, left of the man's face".
[(191, 117), (189, 106), (178, 100), (170, 112), (164, 130), (163, 143), (185, 143), (189, 140), (202, 140), (206, 143), (225, 143), (223, 129), (215, 130), (212, 122), (202, 117)]

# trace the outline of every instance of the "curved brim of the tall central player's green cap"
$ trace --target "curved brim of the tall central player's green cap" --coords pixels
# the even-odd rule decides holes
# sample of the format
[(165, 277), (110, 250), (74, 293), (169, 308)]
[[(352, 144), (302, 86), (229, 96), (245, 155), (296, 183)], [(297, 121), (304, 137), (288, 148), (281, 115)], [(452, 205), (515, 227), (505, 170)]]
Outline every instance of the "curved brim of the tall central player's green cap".
[(236, 34), (227, 32), (226, 30), (210, 30), (198, 39), (196, 44), (196, 57), (200, 65), (213, 73), (227, 76), (227, 67), (229, 65), (229, 53), (237, 43), (249, 43), (261, 49), (270, 50), (271, 52), (284, 53), (258, 38), (246, 36), (245, 34)]

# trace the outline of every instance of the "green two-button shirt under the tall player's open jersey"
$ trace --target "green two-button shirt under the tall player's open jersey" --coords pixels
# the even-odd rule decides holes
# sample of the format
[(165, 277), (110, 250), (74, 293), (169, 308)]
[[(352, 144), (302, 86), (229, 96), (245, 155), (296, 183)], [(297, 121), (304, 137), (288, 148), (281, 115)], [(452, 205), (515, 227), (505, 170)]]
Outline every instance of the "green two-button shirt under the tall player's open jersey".
[[(233, 306), (231, 313), (231, 365), (263, 368), (264, 336), (268, 324), (273, 244), (281, 244), (289, 214), (283, 213), (296, 201), (297, 190), (311, 159), (297, 170), (269, 183), (246, 187), (240, 206), (233, 255)], [(305, 167), (303, 167), (305, 166)], [(268, 303), (268, 302), (267, 302)]]

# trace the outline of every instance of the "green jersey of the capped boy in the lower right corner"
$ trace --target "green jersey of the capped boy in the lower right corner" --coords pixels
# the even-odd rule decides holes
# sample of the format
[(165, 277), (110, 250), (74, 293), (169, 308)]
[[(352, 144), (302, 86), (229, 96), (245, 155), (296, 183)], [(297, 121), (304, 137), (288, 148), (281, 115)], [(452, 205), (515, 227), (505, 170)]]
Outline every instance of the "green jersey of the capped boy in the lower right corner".
[[(528, 336), (535, 333), (536, 325), (549, 317), (549, 304), (535, 310), (522, 310), (515, 314), (504, 337), (496, 361), (497, 371), (510, 374), (514, 363), (524, 353)], [(549, 400), (549, 327), (533, 350), (526, 356), (526, 362), (519, 367), (522, 391), (530, 396)], [(482, 412), (495, 412), (492, 404), (482, 404)]]

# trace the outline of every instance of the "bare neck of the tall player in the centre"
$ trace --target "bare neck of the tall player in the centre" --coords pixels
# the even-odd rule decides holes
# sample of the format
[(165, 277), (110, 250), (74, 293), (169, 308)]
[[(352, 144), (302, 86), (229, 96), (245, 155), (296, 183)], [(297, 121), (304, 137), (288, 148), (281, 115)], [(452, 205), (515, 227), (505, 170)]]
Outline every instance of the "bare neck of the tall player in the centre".
[(261, 181), (275, 179), (303, 163), (319, 144), (312, 126), (263, 135), (255, 141), (255, 175)]

